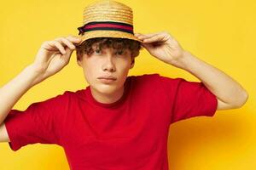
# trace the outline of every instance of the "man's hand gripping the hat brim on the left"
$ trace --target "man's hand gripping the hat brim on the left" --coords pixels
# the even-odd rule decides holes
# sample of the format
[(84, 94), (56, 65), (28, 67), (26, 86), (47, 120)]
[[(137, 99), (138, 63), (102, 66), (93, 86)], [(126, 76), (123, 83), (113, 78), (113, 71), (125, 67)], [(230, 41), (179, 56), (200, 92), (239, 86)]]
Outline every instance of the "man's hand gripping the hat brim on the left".
[(58, 37), (55, 40), (44, 42), (32, 64), (35, 71), (43, 74), (44, 78), (61, 71), (69, 62), (75, 49), (74, 44), (79, 42), (81, 42), (81, 38), (74, 36)]

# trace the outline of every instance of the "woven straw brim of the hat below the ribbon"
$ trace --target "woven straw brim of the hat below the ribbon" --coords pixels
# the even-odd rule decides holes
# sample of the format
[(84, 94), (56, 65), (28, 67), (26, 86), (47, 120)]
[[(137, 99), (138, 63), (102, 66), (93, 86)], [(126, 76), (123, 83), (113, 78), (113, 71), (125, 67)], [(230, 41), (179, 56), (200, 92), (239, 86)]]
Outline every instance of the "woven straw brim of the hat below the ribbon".
[(102, 30), (88, 31), (88, 32), (85, 32), (84, 35), (80, 35), (79, 37), (82, 38), (82, 41), (79, 44), (83, 43), (85, 40), (88, 40), (94, 37), (119, 37), (119, 38), (127, 38), (131, 40), (135, 40), (138, 42), (143, 42), (142, 40), (138, 39), (134, 35), (123, 32), (123, 31), (110, 31), (110, 30), (109, 31), (102, 31)]

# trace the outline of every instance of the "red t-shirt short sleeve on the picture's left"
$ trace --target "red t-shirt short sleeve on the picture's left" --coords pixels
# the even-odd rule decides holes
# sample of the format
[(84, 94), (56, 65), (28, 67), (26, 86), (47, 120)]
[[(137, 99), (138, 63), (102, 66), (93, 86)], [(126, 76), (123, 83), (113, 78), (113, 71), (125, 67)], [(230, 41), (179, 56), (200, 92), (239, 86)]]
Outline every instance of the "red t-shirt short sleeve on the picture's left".
[(32, 103), (25, 111), (11, 110), (4, 123), (9, 147), (16, 151), (26, 144), (61, 145), (61, 115), (67, 108), (67, 92)]

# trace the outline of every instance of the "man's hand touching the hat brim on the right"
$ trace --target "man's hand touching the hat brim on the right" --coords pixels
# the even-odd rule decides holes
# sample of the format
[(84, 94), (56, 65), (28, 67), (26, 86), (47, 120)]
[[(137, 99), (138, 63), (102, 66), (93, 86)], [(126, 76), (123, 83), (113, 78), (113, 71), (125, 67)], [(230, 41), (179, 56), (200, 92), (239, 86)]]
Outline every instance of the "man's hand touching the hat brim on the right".
[(160, 59), (167, 64), (182, 67), (179, 60), (183, 58), (183, 48), (179, 43), (166, 31), (141, 34), (135, 33), (135, 36), (143, 40), (143, 48), (146, 48), (149, 54)]

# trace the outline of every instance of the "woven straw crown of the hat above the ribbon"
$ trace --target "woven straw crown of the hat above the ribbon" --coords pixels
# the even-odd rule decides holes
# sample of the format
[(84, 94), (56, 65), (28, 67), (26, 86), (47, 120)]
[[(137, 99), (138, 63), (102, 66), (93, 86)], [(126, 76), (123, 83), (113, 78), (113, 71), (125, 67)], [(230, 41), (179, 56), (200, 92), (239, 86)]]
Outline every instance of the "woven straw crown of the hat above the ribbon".
[(132, 9), (123, 3), (102, 0), (84, 8), (83, 24), (96, 21), (113, 21), (133, 26)]

